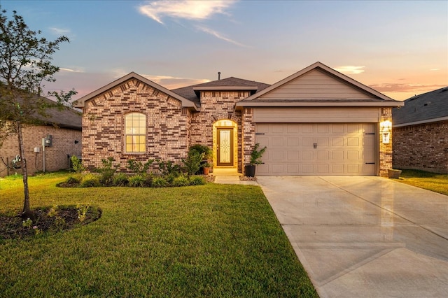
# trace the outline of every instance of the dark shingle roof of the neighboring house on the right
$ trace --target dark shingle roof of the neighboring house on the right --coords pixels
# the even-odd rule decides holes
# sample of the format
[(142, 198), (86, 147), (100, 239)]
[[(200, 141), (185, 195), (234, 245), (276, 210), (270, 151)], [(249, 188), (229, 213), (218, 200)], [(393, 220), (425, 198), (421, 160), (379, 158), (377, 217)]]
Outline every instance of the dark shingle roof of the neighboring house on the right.
[(406, 99), (405, 106), (393, 108), (392, 119), (394, 127), (448, 120), (448, 87)]

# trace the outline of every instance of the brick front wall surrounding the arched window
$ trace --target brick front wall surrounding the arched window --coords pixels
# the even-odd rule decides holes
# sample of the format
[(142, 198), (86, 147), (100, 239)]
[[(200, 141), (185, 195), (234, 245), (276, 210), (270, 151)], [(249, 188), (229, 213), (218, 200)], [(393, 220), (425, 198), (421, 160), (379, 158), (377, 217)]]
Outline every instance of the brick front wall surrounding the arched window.
[[(132, 79), (87, 101), (83, 111), (83, 164), (87, 169), (101, 166), (113, 157), (118, 171), (127, 170), (127, 160), (148, 159), (181, 162), (188, 152), (190, 113), (181, 102)], [(124, 148), (125, 114), (146, 114), (147, 150), (127, 153)]]

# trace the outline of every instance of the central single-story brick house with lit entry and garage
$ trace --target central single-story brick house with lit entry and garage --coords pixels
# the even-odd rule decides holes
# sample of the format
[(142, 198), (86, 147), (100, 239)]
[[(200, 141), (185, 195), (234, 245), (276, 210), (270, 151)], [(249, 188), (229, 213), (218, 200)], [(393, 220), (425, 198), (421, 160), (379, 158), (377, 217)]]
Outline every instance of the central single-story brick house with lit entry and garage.
[(225, 78), (167, 90), (129, 73), (76, 104), (88, 169), (107, 157), (121, 171), (128, 159), (180, 162), (200, 143), (213, 148), (214, 167), (241, 172), (260, 143), (258, 175), (381, 176), (392, 144), (380, 122), (401, 105), (320, 62), (274, 85)]

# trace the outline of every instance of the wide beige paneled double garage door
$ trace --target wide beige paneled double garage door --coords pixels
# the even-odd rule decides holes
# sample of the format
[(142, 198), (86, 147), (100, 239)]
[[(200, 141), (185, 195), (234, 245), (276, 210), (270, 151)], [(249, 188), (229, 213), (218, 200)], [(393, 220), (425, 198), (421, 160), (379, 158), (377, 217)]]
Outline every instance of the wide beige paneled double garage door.
[(375, 175), (374, 123), (258, 123), (257, 175)]

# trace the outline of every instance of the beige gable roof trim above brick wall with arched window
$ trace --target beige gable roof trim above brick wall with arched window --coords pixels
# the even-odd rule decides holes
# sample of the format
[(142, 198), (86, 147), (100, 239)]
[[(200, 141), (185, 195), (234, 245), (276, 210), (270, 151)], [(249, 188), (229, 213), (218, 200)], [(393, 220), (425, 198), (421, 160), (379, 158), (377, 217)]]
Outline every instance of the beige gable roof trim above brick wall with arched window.
[(144, 76), (140, 76), (138, 73), (134, 73), (134, 72), (128, 73), (126, 76), (123, 76), (122, 78), (119, 78), (118, 80), (114, 80), (112, 83), (109, 83), (106, 86), (101, 87), (98, 90), (85, 95), (84, 97), (81, 97), (80, 99), (75, 101), (75, 103), (73, 103), (73, 105), (76, 106), (77, 108), (83, 108), (85, 106), (86, 101), (89, 101), (90, 99), (93, 99), (94, 97), (97, 97), (98, 95), (100, 95), (104, 92), (107, 92), (113, 88), (116, 88), (119, 85), (127, 82), (127, 80), (131, 80), (132, 78), (135, 78), (135, 79), (141, 81), (142, 83), (145, 83), (146, 85), (149, 85), (149, 86), (153, 87), (154, 89), (157, 89), (160, 92), (163, 92), (163, 93), (169, 95), (170, 97), (173, 97), (174, 99), (181, 101), (182, 106), (184, 108), (193, 108), (194, 110), (197, 110), (197, 107), (195, 106), (195, 104), (192, 101), (190, 101), (190, 100), (186, 99), (185, 97), (182, 97), (181, 95), (176, 94), (176, 93), (168, 90), (167, 88), (162, 87), (161, 85), (158, 85), (157, 83), (154, 83), (152, 80), (148, 80)]

